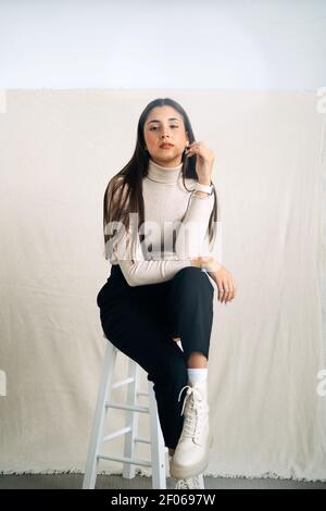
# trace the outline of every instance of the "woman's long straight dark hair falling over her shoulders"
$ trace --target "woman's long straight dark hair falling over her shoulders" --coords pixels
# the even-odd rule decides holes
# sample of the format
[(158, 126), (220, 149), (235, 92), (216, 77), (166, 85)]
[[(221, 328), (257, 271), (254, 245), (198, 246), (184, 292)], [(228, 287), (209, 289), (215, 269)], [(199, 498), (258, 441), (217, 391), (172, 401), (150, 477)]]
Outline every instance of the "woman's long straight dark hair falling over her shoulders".
[[(128, 163), (115, 174), (109, 182), (104, 198), (103, 198), (103, 233), (104, 233), (104, 246), (110, 241), (113, 234), (108, 234), (105, 232), (105, 226), (111, 222), (121, 222), (123, 223), (126, 230), (129, 228), (129, 213), (138, 213), (138, 229), (145, 222), (143, 214), (143, 197), (142, 197), (142, 179), (148, 174), (148, 164), (150, 155), (145, 149), (145, 138), (143, 138), (143, 125), (147, 121), (149, 112), (154, 107), (164, 107), (170, 105), (179, 112), (184, 119), (185, 129), (188, 132), (189, 142), (195, 141), (195, 136), (192, 127), (189, 121), (189, 117), (183, 107), (174, 101), (171, 98), (158, 98), (148, 103), (148, 105), (142, 111), (137, 127), (137, 141), (136, 148), (131, 159)], [(185, 184), (185, 177), (192, 178), (198, 180), (196, 173), (196, 154), (191, 159), (185, 158), (185, 152), (183, 152), (181, 161), (181, 175), (184, 187), (188, 190)], [(214, 183), (212, 182), (214, 185)], [(188, 190), (191, 191), (191, 190)], [(209, 242), (210, 249), (211, 244), (214, 242), (216, 236), (216, 222), (217, 222), (217, 196), (215, 187), (213, 189), (214, 194), (214, 207), (209, 222)], [(111, 200), (114, 196), (114, 200)], [(141, 241), (145, 238), (143, 234), (139, 234), (142, 237)], [(106, 250), (104, 249), (105, 259), (108, 259)]]

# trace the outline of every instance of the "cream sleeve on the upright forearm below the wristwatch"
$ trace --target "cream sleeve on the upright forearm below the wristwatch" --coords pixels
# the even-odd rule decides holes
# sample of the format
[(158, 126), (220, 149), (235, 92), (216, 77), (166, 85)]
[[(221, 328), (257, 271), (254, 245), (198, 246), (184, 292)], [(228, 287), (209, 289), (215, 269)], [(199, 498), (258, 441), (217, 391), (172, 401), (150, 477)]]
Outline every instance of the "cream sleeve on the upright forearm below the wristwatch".
[(190, 203), (180, 224), (175, 252), (179, 259), (196, 258), (210, 253), (208, 245), (208, 228), (214, 207), (214, 195), (190, 197)]

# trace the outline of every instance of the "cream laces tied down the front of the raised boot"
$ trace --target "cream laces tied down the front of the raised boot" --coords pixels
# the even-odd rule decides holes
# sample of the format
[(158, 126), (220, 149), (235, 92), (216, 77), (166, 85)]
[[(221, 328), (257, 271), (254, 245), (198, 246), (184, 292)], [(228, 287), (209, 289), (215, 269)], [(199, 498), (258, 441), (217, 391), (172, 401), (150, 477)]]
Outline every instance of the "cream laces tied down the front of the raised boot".
[(200, 390), (193, 386), (185, 385), (185, 387), (180, 390), (178, 401), (180, 400), (180, 396), (183, 391), (187, 388), (187, 394), (184, 400), (183, 410), (180, 415), (185, 415), (181, 437), (195, 437), (197, 434), (199, 435), (202, 427), (202, 395)]

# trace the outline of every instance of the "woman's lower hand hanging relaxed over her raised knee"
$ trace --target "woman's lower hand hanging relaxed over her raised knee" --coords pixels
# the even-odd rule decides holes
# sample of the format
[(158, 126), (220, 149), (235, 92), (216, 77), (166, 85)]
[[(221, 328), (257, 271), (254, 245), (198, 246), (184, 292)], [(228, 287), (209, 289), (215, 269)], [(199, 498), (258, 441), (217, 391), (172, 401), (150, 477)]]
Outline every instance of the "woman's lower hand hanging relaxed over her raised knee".
[(237, 288), (230, 272), (213, 257), (201, 257), (198, 259), (200, 267), (205, 270), (209, 276), (216, 283), (218, 288), (217, 299), (221, 303), (224, 302), (226, 304), (228, 301), (231, 301), (236, 296)]

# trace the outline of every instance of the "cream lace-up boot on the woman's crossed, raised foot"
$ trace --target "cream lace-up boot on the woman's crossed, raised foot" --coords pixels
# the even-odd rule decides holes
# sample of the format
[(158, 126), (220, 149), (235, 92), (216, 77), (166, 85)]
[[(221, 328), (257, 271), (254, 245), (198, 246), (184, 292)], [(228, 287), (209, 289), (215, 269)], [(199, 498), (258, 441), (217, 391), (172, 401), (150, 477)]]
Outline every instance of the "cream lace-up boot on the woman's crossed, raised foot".
[(185, 421), (170, 466), (171, 475), (180, 479), (195, 477), (205, 470), (213, 441), (209, 425), (208, 378), (186, 385), (179, 400), (185, 388), (187, 395), (181, 411)]

